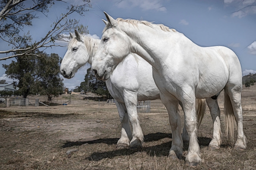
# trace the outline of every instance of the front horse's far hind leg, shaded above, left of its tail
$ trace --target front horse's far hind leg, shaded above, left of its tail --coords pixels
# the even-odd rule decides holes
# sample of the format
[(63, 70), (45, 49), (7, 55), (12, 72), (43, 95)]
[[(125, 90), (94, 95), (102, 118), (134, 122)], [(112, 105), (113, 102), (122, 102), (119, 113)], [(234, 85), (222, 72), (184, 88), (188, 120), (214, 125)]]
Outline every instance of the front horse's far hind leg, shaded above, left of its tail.
[[(218, 97), (218, 96), (217, 96)], [(212, 141), (210, 142), (208, 149), (216, 150), (220, 148), (222, 144), (221, 129), (220, 129), (220, 107), (217, 99), (207, 98), (206, 103), (210, 109), (210, 113), (213, 121), (213, 134)]]

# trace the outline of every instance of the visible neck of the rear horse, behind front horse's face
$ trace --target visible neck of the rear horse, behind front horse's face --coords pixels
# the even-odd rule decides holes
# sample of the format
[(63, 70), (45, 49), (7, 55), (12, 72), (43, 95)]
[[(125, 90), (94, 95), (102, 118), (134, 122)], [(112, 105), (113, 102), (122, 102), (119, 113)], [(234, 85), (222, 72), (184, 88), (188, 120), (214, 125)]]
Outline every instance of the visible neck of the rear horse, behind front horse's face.
[(92, 65), (92, 60), (98, 50), (100, 39), (84, 36), (84, 44), (89, 53), (88, 63)]

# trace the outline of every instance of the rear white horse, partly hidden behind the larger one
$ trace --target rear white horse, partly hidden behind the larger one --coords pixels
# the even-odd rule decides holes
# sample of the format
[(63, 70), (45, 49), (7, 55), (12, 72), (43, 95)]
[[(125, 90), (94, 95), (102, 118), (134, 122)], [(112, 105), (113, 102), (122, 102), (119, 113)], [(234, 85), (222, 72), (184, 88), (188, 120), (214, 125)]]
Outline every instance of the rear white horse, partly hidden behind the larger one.
[[(100, 43), (99, 39), (81, 35), (76, 30), (75, 34), (74, 37), (70, 34), (72, 39), (60, 65), (60, 73), (65, 78), (74, 77), (76, 71), (87, 62), (92, 64)], [(108, 91), (115, 99), (122, 124), (121, 138), (117, 142), (118, 148), (142, 147), (144, 138), (137, 115), (137, 102), (160, 99), (159, 90), (152, 77), (151, 65), (139, 56), (136, 61), (133, 55), (128, 55), (123, 64), (118, 64), (112, 76), (106, 81)], [(196, 103), (197, 113), (202, 119), (206, 109), (205, 100), (196, 100)], [(133, 132), (129, 122), (132, 124)], [(185, 128), (182, 136), (188, 141)]]

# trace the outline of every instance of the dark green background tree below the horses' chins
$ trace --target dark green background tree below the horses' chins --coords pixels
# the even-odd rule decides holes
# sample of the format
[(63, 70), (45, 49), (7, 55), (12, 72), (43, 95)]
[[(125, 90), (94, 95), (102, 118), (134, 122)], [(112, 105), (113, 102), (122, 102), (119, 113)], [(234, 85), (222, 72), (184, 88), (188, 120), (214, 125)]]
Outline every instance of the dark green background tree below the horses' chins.
[(91, 68), (87, 69), (87, 74), (84, 76), (84, 81), (80, 83), (80, 89), (84, 92), (96, 93), (100, 96), (111, 98), (110, 93), (105, 81), (98, 80), (91, 71)]

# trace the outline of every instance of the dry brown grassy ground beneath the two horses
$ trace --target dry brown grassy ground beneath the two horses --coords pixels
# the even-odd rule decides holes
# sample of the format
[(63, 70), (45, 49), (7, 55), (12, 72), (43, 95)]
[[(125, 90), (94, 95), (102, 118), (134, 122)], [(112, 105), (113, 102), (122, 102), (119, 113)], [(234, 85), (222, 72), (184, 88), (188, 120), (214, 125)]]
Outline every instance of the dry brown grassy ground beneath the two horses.
[[(255, 95), (254, 95), (255, 93)], [(222, 142), (219, 150), (208, 150), (213, 124), (209, 109), (198, 129), (203, 162), (194, 169), (256, 169), (256, 88), (243, 91), (245, 151), (233, 150), (224, 137), (223, 94)], [(171, 127), (161, 106), (139, 113), (145, 142), (139, 151), (117, 149), (121, 124), (115, 104), (55, 107), (0, 108), (0, 169), (148, 170), (192, 169), (184, 159), (168, 159)], [(181, 111), (183, 127), (183, 112)], [(236, 136), (236, 130), (235, 130)], [(70, 152), (75, 150), (75, 152)], [(183, 155), (188, 153), (184, 144)]]

